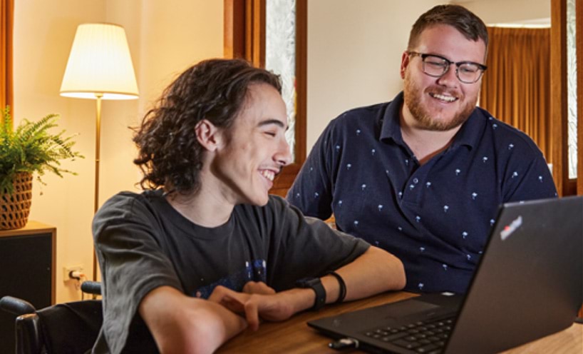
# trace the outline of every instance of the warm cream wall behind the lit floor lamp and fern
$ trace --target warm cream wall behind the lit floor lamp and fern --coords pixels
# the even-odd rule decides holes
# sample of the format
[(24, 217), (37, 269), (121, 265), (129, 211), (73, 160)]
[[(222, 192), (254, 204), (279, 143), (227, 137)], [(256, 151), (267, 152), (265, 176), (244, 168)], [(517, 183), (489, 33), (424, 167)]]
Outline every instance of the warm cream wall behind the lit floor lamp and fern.
[[(60, 113), (59, 128), (78, 133), (83, 160), (64, 163), (78, 176), (46, 176), (34, 183), (31, 220), (57, 228), (56, 300), (81, 298), (63, 283), (62, 268), (83, 265), (92, 274), (95, 116), (93, 100), (59, 96), (78, 24), (111, 22), (125, 27), (140, 99), (103, 101), (100, 196), (103, 203), (120, 190), (136, 190), (135, 148), (128, 126), (135, 126), (162, 89), (195, 61), (222, 56), (222, 1), (205, 0), (27, 0), (15, 1), (15, 121)], [(41, 195), (42, 189), (42, 195)]]

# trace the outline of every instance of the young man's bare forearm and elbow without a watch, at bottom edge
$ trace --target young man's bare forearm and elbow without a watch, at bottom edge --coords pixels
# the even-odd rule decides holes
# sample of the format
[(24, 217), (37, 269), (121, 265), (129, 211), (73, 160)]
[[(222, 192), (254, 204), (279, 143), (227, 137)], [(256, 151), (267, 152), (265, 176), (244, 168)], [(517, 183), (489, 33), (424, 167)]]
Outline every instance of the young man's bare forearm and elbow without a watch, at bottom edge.
[(140, 303), (140, 315), (161, 353), (212, 353), (247, 326), (222, 305), (170, 287), (148, 293)]

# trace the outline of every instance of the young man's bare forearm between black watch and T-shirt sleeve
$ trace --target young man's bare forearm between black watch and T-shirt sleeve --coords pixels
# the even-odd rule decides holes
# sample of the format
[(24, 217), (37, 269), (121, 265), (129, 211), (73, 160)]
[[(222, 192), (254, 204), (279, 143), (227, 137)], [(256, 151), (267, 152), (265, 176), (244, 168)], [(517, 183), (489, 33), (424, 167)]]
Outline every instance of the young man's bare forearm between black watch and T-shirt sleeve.
[[(401, 290), (406, 283), (403, 263), (381, 248), (371, 246), (353, 262), (336, 270), (346, 283), (344, 300), (366, 298), (388, 290)], [(326, 289), (326, 303), (339, 297), (339, 281), (332, 275), (321, 278)]]

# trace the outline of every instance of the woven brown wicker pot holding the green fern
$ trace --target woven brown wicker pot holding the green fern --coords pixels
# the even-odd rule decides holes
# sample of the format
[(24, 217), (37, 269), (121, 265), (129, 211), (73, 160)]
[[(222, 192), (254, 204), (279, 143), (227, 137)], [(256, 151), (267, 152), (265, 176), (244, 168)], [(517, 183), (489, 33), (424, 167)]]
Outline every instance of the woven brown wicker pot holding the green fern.
[(32, 202), (32, 173), (20, 172), (12, 180), (14, 191), (2, 191), (0, 198), (0, 230), (24, 228), (29, 221)]

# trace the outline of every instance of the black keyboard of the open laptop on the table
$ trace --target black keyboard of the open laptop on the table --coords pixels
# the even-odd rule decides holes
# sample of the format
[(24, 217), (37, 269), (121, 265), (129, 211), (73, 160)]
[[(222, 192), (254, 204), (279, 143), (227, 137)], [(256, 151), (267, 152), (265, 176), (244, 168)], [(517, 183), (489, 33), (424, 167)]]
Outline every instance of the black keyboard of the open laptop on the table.
[(411, 323), (399, 327), (381, 327), (368, 330), (364, 335), (417, 353), (441, 353), (453, 328), (453, 318), (433, 322)]

